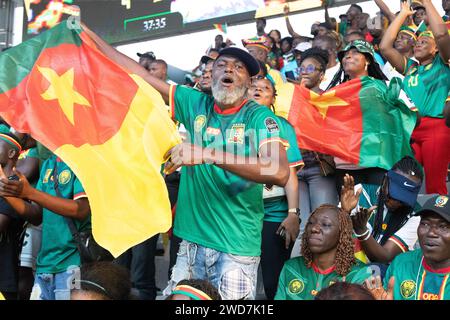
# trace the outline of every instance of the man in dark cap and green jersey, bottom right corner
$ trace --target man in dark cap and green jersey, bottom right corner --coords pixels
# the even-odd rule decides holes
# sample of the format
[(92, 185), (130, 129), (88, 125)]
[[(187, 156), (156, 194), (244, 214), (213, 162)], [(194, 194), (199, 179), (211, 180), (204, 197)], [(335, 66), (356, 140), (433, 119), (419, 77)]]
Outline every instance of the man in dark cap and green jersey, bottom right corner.
[(417, 214), (420, 249), (394, 259), (384, 278), (387, 291), (372, 288), (378, 299), (450, 300), (449, 196), (432, 197)]

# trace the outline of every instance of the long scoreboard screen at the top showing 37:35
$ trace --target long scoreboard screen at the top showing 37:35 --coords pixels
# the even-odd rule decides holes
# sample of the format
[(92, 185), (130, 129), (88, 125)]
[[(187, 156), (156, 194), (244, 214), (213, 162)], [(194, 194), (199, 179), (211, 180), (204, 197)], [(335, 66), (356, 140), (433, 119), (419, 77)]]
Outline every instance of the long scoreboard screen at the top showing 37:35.
[[(358, 2), (340, 1), (336, 2)], [(24, 40), (67, 19), (81, 18), (111, 44), (208, 30), (291, 12), (318, 9), (321, 0), (24, 0)]]

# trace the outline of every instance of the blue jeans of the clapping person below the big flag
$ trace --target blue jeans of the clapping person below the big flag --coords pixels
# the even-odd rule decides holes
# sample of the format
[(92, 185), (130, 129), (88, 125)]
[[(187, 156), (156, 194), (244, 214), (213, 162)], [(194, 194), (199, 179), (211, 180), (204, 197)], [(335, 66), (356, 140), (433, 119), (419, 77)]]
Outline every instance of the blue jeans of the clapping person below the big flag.
[(73, 280), (79, 276), (78, 267), (60, 273), (38, 273), (30, 300), (70, 300)]

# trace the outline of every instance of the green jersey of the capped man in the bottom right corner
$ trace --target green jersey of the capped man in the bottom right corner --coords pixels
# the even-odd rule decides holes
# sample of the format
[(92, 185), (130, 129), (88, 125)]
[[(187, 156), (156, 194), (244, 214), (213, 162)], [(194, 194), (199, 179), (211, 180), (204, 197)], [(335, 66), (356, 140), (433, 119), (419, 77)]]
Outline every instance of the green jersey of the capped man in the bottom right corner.
[(450, 267), (433, 270), (421, 249), (395, 257), (384, 277), (387, 289), (394, 276), (394, 300), (450, 300)]

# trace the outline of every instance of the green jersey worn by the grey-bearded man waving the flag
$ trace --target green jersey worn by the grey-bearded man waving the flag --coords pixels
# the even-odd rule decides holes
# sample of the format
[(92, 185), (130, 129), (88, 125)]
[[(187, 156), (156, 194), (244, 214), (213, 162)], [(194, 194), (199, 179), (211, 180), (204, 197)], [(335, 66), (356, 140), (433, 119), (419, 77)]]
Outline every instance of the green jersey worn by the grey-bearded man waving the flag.
[[(254, 101), (222, 111), (202, 92), (171, 87), (172, 117), (187, 131), (187, 141), (245, 157), (281, 141), (280, 122), (269, 108)], [(259, 256), (264, 217), (263, 185), (215, 165), (183, 167), (174, 233), (215, 250)]]

